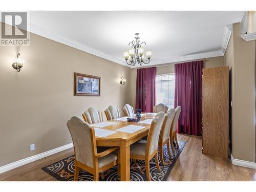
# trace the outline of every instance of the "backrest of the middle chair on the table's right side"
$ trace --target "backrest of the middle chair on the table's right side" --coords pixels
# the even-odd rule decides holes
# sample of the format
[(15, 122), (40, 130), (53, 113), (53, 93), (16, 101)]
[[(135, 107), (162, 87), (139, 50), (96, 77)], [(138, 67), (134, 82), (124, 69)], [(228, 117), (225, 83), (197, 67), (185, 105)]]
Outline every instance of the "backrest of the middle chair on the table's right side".
[(172, 126), (172, 122), (174, 120), (174, 116), (175, 116), (175, 110), (173, 108), (170, 109), (165, 115), (166, 120), (162, 125), (162, 130), (161, 130), (161, 134), (160, 134), (160, 139), (162, 138), (161, 139), (162, 142), (169, 139), (170, 129), (171, 129), (171, 126)]

